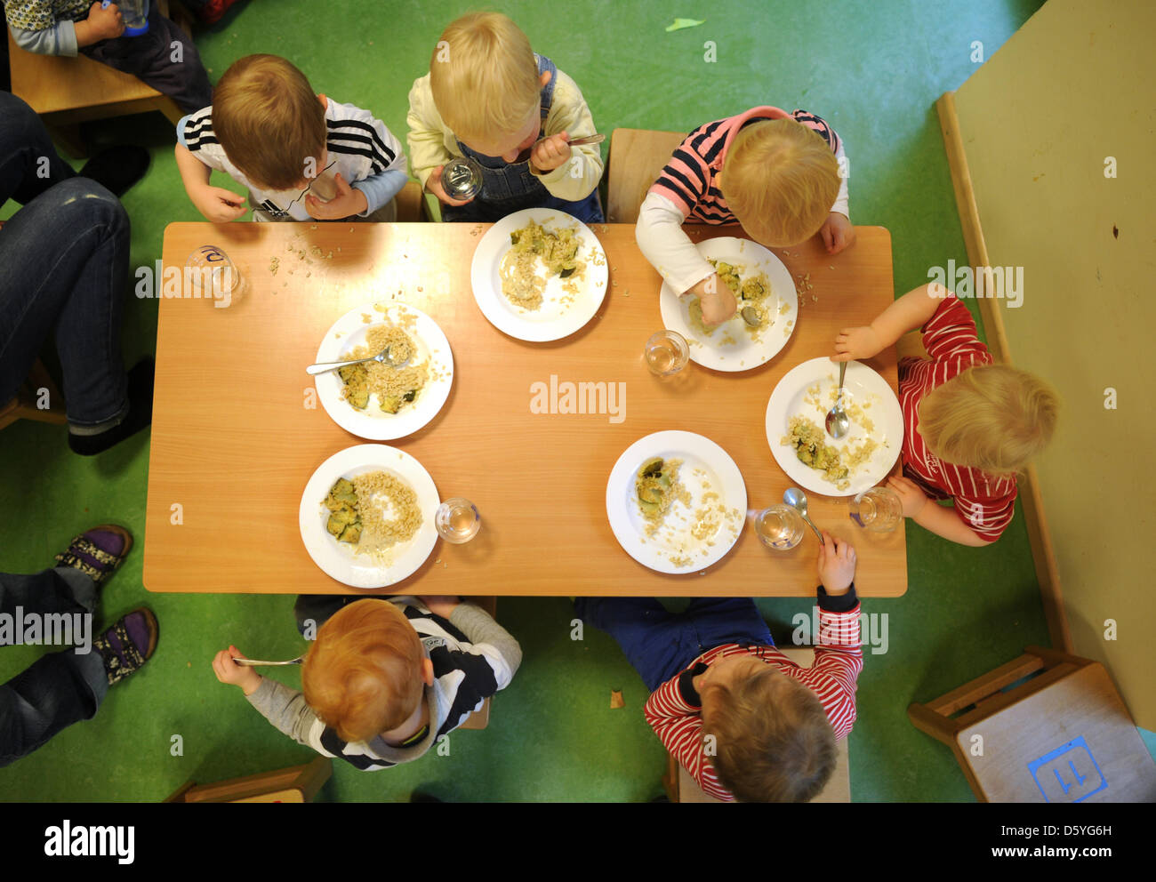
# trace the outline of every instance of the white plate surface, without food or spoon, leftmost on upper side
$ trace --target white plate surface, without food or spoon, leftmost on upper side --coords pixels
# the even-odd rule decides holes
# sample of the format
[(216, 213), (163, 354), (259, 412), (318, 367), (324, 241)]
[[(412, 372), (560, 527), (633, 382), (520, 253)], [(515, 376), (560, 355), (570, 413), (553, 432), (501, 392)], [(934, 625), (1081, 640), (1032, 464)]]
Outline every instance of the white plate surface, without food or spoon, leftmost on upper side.
[[(453, 353), (450, 351), (450, 341), (433, 319), (405, 303), (366, 303), (347, 312), (325, 332), (325, 339), (317, 350), (317, 362), (340, 362), (348, 358), (353, 349), (365, 343), (365, 334), (372, 326), (398, 324), (407, 314), (416, 318), (409, 336), (417, 351), (409, 364), (425, 362), (430, 365), (431, 375), (437, 375), (436, 378), (430, 376), (427, 379), (413, 405), (406, 405), (397, 414), (387, 414), (378, 407), (377, 395), (369, 396), (364, 410), (358, 410), (341, 398), (341, 390), (346, 384), (336, 371), (318, 375), (313, 379), (321, 407), (347, 432), (372, 440), (403, 438), (437, 416), (450, 396), (450, 387), (453, 385)], [(365, 316), (370, 317), (368, 324)]]

